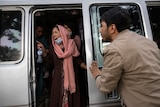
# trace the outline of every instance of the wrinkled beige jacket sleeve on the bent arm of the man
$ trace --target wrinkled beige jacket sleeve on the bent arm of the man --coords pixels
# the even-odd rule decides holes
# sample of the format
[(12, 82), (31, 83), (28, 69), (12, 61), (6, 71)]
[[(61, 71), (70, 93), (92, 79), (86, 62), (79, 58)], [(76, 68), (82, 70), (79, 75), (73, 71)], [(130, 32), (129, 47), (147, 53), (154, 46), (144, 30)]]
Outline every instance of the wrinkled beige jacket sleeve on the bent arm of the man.
[(102, 74), (96, 79), (96, 85), (103, 93), (110, 93), (117, 88), (122, 73), (122, 58), (116, 50), (104, 53)]

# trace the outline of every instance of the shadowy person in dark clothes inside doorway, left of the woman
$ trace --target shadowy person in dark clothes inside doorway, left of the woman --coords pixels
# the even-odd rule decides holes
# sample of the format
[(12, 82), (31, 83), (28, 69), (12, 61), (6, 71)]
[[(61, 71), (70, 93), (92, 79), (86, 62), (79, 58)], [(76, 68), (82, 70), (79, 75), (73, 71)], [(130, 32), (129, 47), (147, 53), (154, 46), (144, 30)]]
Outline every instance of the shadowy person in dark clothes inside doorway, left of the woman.
[[(36, 78), (37, 78), (37, 86), (36, 86), (36, 95), (42, 95), (43, 90), (47, 91), (49, 89), (49, 85), (46, 82), (48, 79), (48, 67), (46, 64), (46, 56), (48, 54), (48, 43), (47, 39), (43, 35), (43, 27), (41, 25), (37, 25), (35, 29), (35, 38), (37, 45), (37, 63), (36, 63)], [(48, 75), (47, 75), (48, 74)]]

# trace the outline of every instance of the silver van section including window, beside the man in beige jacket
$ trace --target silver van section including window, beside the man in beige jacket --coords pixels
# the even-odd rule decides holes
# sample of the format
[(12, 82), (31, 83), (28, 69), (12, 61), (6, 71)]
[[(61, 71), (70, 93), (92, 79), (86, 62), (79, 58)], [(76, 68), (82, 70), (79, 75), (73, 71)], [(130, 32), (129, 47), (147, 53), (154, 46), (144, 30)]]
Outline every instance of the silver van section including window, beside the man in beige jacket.
[[(103, 0), (103, 2), (94, 3), (85, 2), (83, 4), (84, 13), (84, 34), (86, 41), (86, 58), (88, 69), (91, 65), (92, 60), (96, 60), (99, 64), (99, 68), (103, 67), (103, 49), (110, 44), (110, 42), (103, 42), (100, 29), (100, 17), (108, 9), (119, 6), (129, 10), (131, 15), (130, 30), (135, 31), (147, 38), (152, 39), (150, 26), (146, 27), (146, 23), (149, 23), (149, 19), (146, 14), (146, 7), (143, 2), (140, 3), (128, 3), (124, 0), (118, 2), (111, 2)], [(141, 8), (140, 8), (141, 7)], [(141, 10), (142, 9), (142, 10)], [(86, 11), (89, 10), (89, 11)], [(145, 18), (144, 18), (145, 17)], [(147, 30), (146, 30), (147, 29)], [(88, 71), (88, 87), (89, 87), (89, 103), (91, 107), (119, 107), (120, 96), (117, 89), (113, 90), (109, 94), (101, 93), (95, 84), (95, 80), (92, 74)]]

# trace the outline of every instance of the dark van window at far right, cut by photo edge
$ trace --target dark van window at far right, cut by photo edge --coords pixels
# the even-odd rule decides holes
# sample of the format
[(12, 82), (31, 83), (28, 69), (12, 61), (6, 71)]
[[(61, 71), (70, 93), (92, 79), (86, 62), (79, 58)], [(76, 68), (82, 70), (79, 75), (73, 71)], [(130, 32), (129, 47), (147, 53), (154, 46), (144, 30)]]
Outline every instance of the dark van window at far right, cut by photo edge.
[(158, 47), (160, 48), (160, 2), (159, 5), (156, 3), (156, 5), (147, 6), (150, 23), (151, 23), (151, 29), (153, 34), (153, 40), (158, 44)]

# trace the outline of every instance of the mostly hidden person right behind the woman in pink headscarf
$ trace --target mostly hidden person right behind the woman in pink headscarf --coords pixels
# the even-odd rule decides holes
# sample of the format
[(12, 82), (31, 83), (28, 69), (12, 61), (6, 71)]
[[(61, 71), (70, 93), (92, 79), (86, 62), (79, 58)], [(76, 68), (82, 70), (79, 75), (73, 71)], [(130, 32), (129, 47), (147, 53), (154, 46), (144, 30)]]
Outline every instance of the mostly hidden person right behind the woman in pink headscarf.
[[(78, 26), (78, 25), (77, 25)], [(70, 38), (73, 39), (76, 43), (76, 46), (80, 52), (80, 60), (82, 60), (83, 56), (82, 54), (82, 49), (81, 49), (81, 38), (78, 35), (78, 27), (76, 27), (76, 24), (74, 22), (65, 22), (64, 27), (70, 32)], [(79, 64), (79, 63), (77, 63)], [(78, 79), (79, 79), (79, 86), (80, 86), (80, 96), (81, 96), (81, 107), (86, 107), (88, 105), (88, 96), (86, 92), (86, 85), (84, 84), (85, 81), (85, 73), (87, 70), (87, 66), (82, 60), (82, 63), (79, 65), (80, 67), (78, 68)]]

